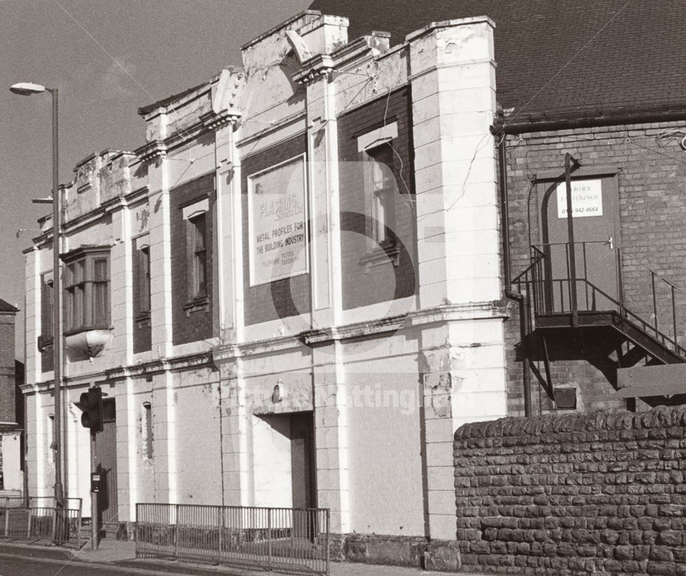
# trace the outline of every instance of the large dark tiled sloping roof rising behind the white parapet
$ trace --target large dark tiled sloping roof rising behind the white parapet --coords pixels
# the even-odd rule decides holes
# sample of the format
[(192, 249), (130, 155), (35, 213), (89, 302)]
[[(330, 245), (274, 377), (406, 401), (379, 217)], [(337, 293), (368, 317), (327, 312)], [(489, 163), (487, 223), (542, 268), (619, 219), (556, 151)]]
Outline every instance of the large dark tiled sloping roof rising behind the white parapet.
[(392, 44), (434, 21), (489, 16), (497, 99), (518, 121), (686, 109), (682, 0), (314, 0), (310, 8), (350, 18), (351, 40), (383, 30)]

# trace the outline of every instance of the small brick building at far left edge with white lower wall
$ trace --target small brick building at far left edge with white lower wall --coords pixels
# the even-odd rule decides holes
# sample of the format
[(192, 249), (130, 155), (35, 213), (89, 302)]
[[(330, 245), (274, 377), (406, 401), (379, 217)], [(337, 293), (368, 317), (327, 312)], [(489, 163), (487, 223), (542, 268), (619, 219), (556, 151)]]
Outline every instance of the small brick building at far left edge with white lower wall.
[(14, 355), (14, 321), (19, 312), (0, 300), (0, 494), (19, 496), (24, 488), (23, 364)]

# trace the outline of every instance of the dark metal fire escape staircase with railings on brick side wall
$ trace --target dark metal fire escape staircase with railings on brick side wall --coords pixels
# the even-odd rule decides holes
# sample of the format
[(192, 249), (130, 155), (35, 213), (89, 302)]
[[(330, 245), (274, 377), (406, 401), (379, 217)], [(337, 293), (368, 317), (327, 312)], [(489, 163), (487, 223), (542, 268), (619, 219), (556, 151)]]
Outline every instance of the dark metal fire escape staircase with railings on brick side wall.
[[(551, 398), (554, 360), (591, 362), (620, 397), (664, 401), (686, 394), (686, 349), (678, 343), (677, 325), (686, 292), (647, 270), (643, 286), (652, 291), (652, 314), (647, 320), (645, 312), (641, 316), (626, 306), (621, 249), (614, 248), (615, 295), (589, 278), (587, 249), (592, 243), (533, 246), (530, 265), (512, 280), (527, 304), (528, 318), (523, 320), (527, 342), (522, 349), (532, 372)], [(564, 254), (566, 262), (560, 262)], [(632, 274), (637, 275), (637, 267), (632, 267)], [(532, 360), (543, 362), (543, 374)]]

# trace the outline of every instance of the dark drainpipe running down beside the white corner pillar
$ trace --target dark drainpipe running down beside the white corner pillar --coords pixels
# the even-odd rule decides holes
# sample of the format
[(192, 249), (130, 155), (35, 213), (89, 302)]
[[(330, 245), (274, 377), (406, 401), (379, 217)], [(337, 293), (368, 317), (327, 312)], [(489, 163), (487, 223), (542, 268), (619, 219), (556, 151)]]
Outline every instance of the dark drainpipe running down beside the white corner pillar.
[[(499, 121), (503, 121), (500, 116)], [(494, 127), (495, 128), (495, 127)], [(493, 129), (492, 129), (493, 130)], [(499, 130), (495, 128), (493, 132)], [(521, 292), (512, 290), (512, 269), (510, 268), (510, 203), (508, 199), (508, 163), (507, 163), (507, 136), (504, 130), (499, 130), (501, 135), (498, 144), (498, 158), (500, 167), (500, 212), (503, 221), (503, 266), (505, 271), (505, 295), (510, 300), (519, 303), (519, 332), (521, 335), (521, 353), (523, 358), (523, 392), (524, 392), (524, 416), (531, 416), (531, 371), (529, 368), (528, 346), (528, 318), (529, 305)]]

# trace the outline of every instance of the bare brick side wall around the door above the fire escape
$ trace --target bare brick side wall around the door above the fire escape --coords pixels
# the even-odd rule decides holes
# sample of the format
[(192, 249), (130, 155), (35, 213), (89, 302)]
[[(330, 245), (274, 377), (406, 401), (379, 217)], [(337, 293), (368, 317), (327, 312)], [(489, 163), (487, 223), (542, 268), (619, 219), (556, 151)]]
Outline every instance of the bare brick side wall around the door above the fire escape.
[[(528, 266), (529, 245), (540, 242), (536, 217), (539, 190), (532, 185), (536, 175), (547, 170), (564, 171), (565, 153), (571, 153), (585, 168), (615, 166), (619, 188), (619, 242), (622, 246), (624, 295), (630, 310), (652, 320), (652, 293), (648, 268), (674, 284), (686, 288), (686, 155), (678, 141), (656, 136), (678, 127), (674, 124), (628, 125), (565, 130), (508, 138), (508, 186), (512, 271), (517, 275)], [(616, 241), (617, 239), (615, 239)], [(672, 336), (672, 309), (665, 284), (659, 288), (659, 325)], [(509, 413), (523, 414), (522, 368), (515, 347), (519, 343), (516, 312), (506, 323), (508, 342)], [(686, 336), (686, 293), (677, 293), (677, 336)], [(597, 349), (599, 342), (578, 338), (576, 344), (554, 340), (558, 347)], [(560, 354), (558, 354), (560, 356)], [(543, 363), (537, 363), (544, 375)], [(554, 384), (578, 386), (580, 408), (621, 408), (625, 401), (613, 397), (613, 386), (587, 360), (557, 360), (552, 363)], [(532, 378), (534, 410), (554, 406)], [(540, 394), (539, 394), (540, 392)], [(534, 413), (536, 413), (534, 412)]]

